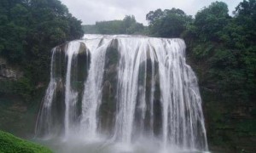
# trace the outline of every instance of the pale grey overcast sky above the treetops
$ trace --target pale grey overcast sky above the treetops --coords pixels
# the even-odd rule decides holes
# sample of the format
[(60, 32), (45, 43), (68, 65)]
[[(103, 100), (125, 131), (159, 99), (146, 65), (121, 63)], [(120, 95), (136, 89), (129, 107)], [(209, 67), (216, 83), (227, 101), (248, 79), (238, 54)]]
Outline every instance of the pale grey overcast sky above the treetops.
[[(84, 25), (93, 25), (102, 20), (123, 20), (125, 14), (133, 14), (137, 22), (147, 25), (146, 14), (157, 8), (180, 8), (186, 14), (195, 15), (198, 10), (216, 0), (61, 0), (69, 12), (83, 21)], [(223, 0), (231, 12), (242, 0)]]

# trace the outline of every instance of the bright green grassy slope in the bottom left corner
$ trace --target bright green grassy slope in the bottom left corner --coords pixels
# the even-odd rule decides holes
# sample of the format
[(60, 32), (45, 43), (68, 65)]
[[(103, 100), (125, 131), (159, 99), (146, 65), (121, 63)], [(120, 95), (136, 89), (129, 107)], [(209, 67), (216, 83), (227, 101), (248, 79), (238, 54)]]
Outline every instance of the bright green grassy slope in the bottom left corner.
[(4, 133), (0, 131), (0, 152), (4, 153), (49, 153), (51, 150), (41, 146), (39, 144), (34, 144), (32, 142), (16, 138), (14, 135), (9, 133)]

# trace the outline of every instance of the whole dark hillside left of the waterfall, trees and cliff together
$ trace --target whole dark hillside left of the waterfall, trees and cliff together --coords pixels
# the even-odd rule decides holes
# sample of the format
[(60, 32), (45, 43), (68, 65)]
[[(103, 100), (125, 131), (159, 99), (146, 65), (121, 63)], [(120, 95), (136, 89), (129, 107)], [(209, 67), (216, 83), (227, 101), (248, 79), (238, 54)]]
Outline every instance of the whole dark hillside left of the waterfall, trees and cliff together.
[(50, 49), (83, 35), (81, 21), (58, 0), (0, 1), (0, 129), (33, 132)]

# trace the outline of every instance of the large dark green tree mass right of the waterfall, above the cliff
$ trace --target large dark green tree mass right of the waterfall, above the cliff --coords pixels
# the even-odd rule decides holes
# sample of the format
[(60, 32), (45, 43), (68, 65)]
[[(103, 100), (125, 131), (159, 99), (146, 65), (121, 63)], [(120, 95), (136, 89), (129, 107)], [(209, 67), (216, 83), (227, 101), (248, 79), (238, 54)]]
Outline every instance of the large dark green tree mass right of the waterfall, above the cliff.
[[(212, 3), (195, 15), (193, 26), (189, 26), (184, 35), (185, 39), (190, 40), (189, 48), (193, 48), (190, 54), (207, 65), (205, 77), (212, 79), (205, 82), (205, 88), (214, 83), (214, 90), (224, 99), (236, 97), (236, 102), (244, 103), (254, 99), (252, 91), (256, 90), (256, 31), (248, 27), (255, 25), (255, 20), (253, 13), (251, 16), (243, 13), (255, 7), (255, 1), (250, 1), (254, 5), (247, 8), (242, 7), (247, 6), (245, 3), (249, 2), (244, 1), (238, 5), (234, 18), (228, 15), (225, 3)], [(241, 24), (244, 18), (248, 22)]]

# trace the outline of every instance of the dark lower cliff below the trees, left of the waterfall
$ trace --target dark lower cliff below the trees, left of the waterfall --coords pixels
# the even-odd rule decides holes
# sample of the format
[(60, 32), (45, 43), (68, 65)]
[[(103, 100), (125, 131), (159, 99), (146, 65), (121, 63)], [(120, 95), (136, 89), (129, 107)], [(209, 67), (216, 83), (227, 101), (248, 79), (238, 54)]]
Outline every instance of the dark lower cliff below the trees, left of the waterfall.
[(0, 129), (26, 137), (33, 133), (44, 87), (31, 92), (21, 70), (0, 57)]

